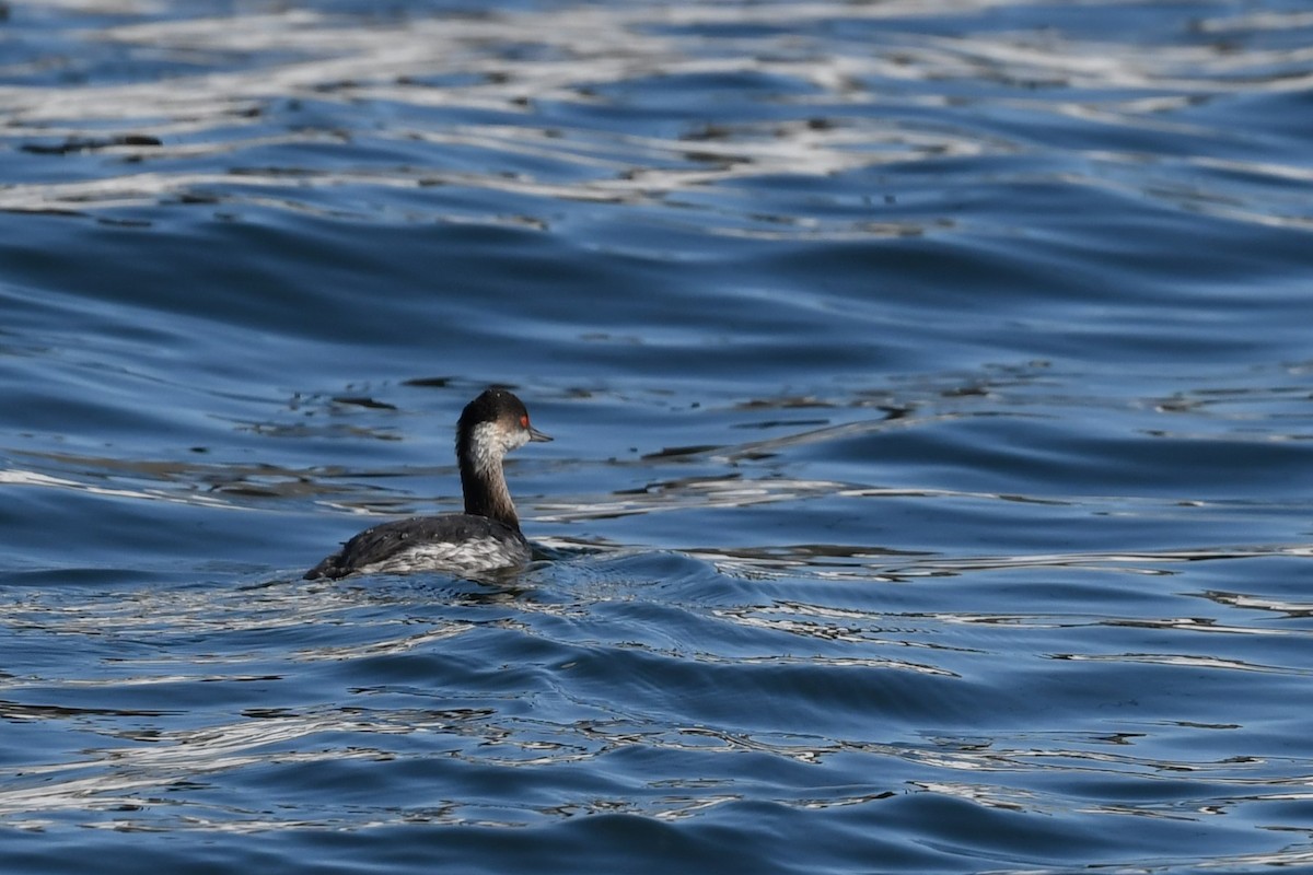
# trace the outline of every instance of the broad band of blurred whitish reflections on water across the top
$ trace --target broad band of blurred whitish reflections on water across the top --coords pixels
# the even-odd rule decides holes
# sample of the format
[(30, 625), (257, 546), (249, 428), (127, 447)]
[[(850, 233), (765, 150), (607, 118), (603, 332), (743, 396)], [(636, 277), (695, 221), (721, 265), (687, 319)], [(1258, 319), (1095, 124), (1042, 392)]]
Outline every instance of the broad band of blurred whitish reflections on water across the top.
[[(951, 12), (987, 21), (998, 5)], [(4, 139), (24, 160), (0, 209), (109, 218), (156, 203), (218, 215), (270, 206), (544, 227), (551, 205), (584, 201), (649, 205), (712, 234), (860, 240), (941, 227), (943, 211), (924, 207), (943, 205), (892, 181), (884, 201), (830, 193), (802, 210), (735, 186), (966, 164), (994, 184), (1075, 182), (1239, 222), (1313, 222), (1306, 197), (1271, 202), (1274, 185), (1306, 184), (1306, 167), (1254, 160), (1242, 132), (1207, 119), (1229, 94), (1306, 88), (1306, 71), (1291, 73), (1305, 66), (1302, 46), (1262, 46), (1266, 34), (1306, 29), (1302, 13), (1167, 20), (1154, 35), (1169, 45), (1142, 51), (1083, 31), (1079, 13), (1070, 31), (940, 33), (943, 12), (772, 3), (168, 18), (88, 4), (81, 14), (109, 16), (108, 26), (74, 16), (67, 30), (37, 35), (53, 51), (72, 42), (85, 52), (60, 80), (30, 49), (5, 68)], [(156, 20), (114, 22), (138, 16)], [(738, 35), (744, 28), (755, 30)], [(1236, 51), (1238, 33), (1254, 45)], [(970, 112), (935, 112), (945, 101)], [(1032, 139), (1073, 125), (1088, 146), (1064, 143), (1061, 159)], [(1153, 151), (1113, 146), (1142, 131), (1158, 136)], [(1179, 157), (1173, 142), (1194, 153)], [(1012, 160), (1027, 153), (1024, 165)], [(53, 174), (53, 160), (88, 167)], [(524, 213), (461, 209), (470, 189), (509, 195)]]

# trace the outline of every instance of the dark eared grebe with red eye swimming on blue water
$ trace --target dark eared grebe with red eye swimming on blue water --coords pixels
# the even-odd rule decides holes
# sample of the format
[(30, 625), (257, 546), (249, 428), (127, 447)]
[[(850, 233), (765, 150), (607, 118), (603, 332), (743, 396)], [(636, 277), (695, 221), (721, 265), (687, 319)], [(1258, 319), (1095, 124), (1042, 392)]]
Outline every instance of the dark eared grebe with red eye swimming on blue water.
[(502, 457), (529, 441), (550, 441), (529, 425), (529, 412), (511, 392), (490, 388), (466, 404), (456, 425), (465, 513), (411, 517), (360, 533), (306, 572), (306, 580), (357, 572), (402, 575), (414, 571), (478, 573), (529, 561)]

